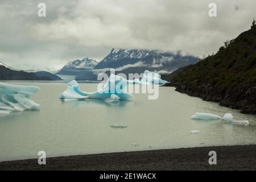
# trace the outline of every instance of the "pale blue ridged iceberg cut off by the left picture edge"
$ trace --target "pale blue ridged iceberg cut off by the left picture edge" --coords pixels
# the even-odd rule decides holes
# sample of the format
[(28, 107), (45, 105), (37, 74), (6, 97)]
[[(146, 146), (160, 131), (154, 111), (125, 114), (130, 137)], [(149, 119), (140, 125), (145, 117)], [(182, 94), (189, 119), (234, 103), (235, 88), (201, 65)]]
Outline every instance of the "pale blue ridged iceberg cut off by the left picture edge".
[(40, 105), (28, 99), (39, 89), (37, 86), (11, 85), (0, 82), (0, 114), (39, 110)]

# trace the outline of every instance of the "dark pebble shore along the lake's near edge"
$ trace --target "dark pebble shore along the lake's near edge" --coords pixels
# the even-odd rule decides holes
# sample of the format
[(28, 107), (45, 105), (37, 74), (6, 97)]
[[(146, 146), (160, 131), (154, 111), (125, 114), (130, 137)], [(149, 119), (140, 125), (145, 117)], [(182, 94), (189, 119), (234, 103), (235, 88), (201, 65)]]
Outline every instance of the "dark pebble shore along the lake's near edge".
[[(209, 151), (217, 152), (210, 165)], [(256, 145), (116, 152), (0, 162), (0, 170), (256, 170)]]

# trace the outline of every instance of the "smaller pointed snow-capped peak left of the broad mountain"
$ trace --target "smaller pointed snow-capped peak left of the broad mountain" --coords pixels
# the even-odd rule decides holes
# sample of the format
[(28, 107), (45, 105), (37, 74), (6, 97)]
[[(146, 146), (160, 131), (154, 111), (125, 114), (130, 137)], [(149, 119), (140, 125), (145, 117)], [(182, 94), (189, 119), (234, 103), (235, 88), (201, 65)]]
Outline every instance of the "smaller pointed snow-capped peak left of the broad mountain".
[(61, 69), (93, 69), (98, 64), (97, 61), (85, 57), (82, 60), (70, 61)]

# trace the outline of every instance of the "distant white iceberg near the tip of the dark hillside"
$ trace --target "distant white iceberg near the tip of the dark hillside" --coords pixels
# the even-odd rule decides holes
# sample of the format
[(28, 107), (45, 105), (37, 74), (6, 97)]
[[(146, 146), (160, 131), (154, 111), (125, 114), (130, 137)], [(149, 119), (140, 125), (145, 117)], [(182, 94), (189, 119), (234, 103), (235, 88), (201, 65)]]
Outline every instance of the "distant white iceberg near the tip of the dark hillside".
[[(138, 80), (136, 80), (136, 83)], [(144, 71), (143, 77), (141, 79), (141, 84), (166, 84), (168, 81), (162, 80), (158, 73), (150, 72), (148, 70)]]

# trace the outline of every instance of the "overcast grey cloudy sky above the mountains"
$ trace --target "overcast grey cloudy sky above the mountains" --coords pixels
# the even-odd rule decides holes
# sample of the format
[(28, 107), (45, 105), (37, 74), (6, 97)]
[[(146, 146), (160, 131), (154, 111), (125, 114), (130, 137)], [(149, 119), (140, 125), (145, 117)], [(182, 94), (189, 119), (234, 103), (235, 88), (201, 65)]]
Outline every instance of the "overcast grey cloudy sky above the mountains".
[[(38, 3), (46, 3), (46, 17)], [(217, 4), (217, 17), (208, 5)], [(255, 0), (0, 0), (0, 61), (60, 68), (112, 48), (216, 52), (248, 30)]]

